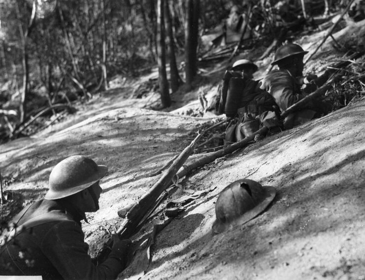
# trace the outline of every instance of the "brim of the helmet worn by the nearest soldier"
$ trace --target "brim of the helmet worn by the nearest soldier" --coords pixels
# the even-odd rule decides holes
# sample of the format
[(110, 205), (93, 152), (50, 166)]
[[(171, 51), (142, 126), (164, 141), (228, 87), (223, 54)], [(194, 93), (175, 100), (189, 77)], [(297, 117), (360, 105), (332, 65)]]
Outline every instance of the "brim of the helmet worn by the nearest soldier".
[(87, 189), (91, 185), (95, 184), (103, 176), (105, 176), (107, 172), (108, 168), (105, 165), (98, 165), (98, 172), (95, 173), (93, 176), (90, 176), (86, 181), (83, 181), (79, 185), (69, 188), (67, 190), (62, 190), (62, 191), (48, 190), (44, 199), (47, 200), (60, 199), (78, 193), (84, 189)]

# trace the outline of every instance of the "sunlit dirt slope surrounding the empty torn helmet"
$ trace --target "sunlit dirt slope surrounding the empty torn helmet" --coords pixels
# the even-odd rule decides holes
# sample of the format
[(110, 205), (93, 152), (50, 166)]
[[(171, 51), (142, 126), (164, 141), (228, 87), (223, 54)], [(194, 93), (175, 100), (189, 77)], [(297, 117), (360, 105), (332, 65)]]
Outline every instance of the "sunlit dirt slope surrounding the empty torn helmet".
[[(193, 189), (217, 189), (167, 225), (142, 279), (364, 279), (364, 116), (362, 102), (190, 177)], [(213, 237), (216, 196), (243, 177), (277, 196), (263, 215)]]

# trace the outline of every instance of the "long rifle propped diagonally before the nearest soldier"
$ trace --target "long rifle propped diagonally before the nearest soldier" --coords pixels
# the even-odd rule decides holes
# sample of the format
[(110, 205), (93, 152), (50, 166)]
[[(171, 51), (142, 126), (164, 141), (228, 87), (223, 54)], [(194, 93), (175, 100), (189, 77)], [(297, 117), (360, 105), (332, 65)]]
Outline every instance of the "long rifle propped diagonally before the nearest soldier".
[[(222, 122), (218, 124), (221, 123)], [(166, 196), (166, 188), (169, 186), (171, 180), (183, 166), (188, 157), (194, 152), (198, 140), (206, 131), (216, 127), (218, 124), (202, 131), (201, 133), (198, 132), (198, 136), (179, 154), (179, 156), (173, 161), (170, 168), (166, 170), (159, 181), (155, 183), (145, 195), (143, 195), (136, 203), (118, 211), (119, 216), (125, 217), (125, 220), (116, 232), (120, 239), (129, 239), (137, 232), (141, 226), (141, 222), (143, 223), (145, 218), (158, 207), (159, 203)], [(164, 192), (165, 195), (163, 194)], [(162, 197), (160, 197), (161, 195)], [(112, 245), (113, 240), (109, 239), (97, 256), (98, 262), (102, 262), (106, 259), (107, 255), (111, 251)]]

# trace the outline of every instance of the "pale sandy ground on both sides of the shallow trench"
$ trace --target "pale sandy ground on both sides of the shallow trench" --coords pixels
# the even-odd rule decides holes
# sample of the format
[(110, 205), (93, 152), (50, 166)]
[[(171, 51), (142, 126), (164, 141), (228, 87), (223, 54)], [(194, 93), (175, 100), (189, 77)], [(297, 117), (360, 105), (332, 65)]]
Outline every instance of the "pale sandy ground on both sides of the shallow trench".
[[(160, 178), (148, 174), (181, 152), (201, 126), (214, 122), (178, 114), (184, 109), (146, 109), (153, 97), (131, 99), (132, 91), (129, 85), (101, 93), (63, 122), (0, 146), (1, 175), (15, 209), (44, 195), (51, 169), (67, 156), (83, 154), (108, 166), (100, 210), (90, 213), (90, 224), (84, 224), (92, 255), (108, 230), (122, 222), (117, 210), (137, 201)], [(196, 100), (193, 95), (181, 98), (181, 104)], [(143, 251), (137, 251), (119, 279), (364, 280), (364, 117), (365, 101), (360, 101), (251, 144), (184, 178), (183, 188), (209, 192), (157, 235), (149, 265), (141, 265)], [(201, 156), (195, 154), (188, 162)], [(213, 236), (219, 192), (245, 177), (274, 186), (274, 201), (254, 220)], [(183, 195), (176, 188), (158, 210)], [(2, 218), (12, 214), (14, 209), (2, 209)], [(133, 237), (136, 244), (165, 219), (161, 211)]]

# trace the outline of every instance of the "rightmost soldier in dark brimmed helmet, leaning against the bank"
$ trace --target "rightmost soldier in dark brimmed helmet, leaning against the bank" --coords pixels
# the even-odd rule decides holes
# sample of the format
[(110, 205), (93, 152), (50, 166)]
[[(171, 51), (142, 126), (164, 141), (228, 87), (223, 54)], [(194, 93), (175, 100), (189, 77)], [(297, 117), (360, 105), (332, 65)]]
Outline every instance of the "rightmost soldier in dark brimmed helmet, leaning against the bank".
[[(301, 90), (301, 86), (317, 79), (313, 74), (303, 77), (303, 57), (306, 53), (308, 52), (294, 43), (279, 47), (274, 62), (271, 63), (277, 65), (279, 69), (270, 71), (262, 80), (261, 88), (273, 96), (281, 111), (304, 98), (305, 93)], [(284, 121), (284, 127), (292, 128), (311, 120), (316, 114), (312, 108), (313, 104), (308, 104), (308, 108), (290, 114)]]

